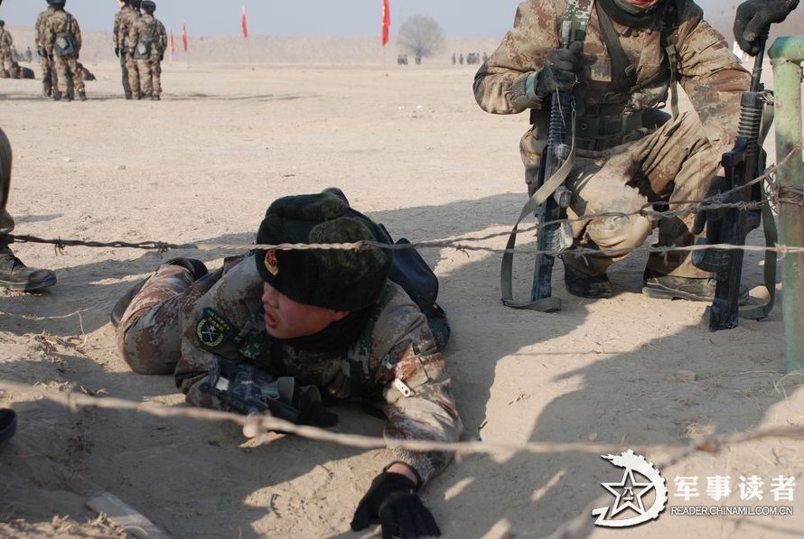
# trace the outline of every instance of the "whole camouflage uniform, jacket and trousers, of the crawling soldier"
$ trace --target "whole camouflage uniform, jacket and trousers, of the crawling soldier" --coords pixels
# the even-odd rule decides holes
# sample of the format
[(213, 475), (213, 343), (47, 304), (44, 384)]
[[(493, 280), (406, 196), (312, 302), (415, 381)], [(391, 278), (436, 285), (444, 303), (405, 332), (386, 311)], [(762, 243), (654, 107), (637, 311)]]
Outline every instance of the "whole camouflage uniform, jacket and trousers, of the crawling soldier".
[[(117, 348), (138, 373), (173, 373), (191, 404), (220, 406), (200, 390), (217, 356), (253, 362), (275, 376), (294, 376), (301, 386), (318, 386), (325, 402), (384, 398), (389, 438), (458, 440), (463, 425), (444, 358), (424, 314), (397, 284), (386, 285), (359, 337), (344, 352), (305, 351), (270, 337), (262, 292), (253, 256), (228, 259), (195, 283), (184, 268), (162, 265), (123, 314)], [(402, 395), (400, 388), (412, 394)], [(450, 457), (440, 451), (394, 450), (393, 455), (423, 481), (444, 469)]]

